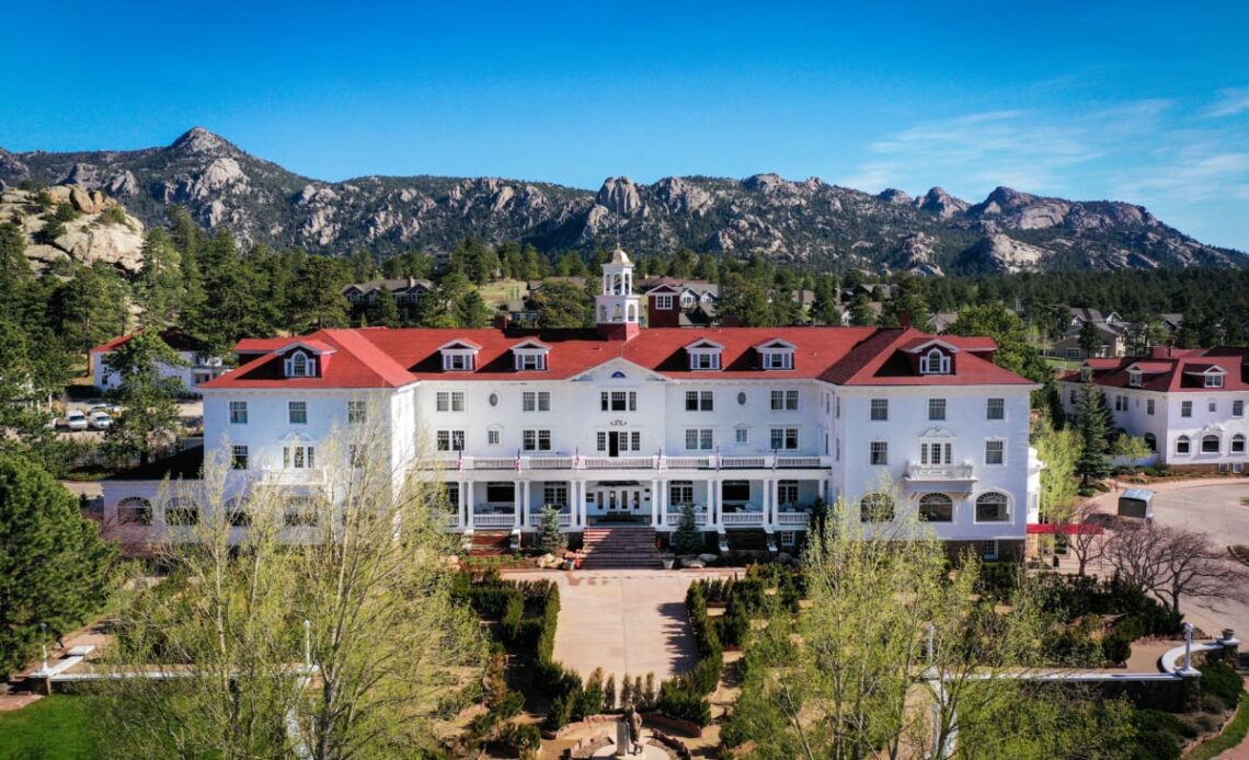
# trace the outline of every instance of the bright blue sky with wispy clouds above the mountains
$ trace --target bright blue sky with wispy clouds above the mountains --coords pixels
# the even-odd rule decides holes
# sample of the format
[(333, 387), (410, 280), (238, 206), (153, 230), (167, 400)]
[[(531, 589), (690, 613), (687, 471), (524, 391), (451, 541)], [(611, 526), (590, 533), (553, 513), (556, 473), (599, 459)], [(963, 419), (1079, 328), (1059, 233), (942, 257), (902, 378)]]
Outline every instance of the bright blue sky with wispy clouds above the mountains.
[[(365, 5), (363, 2), (355, 5)], [(0, 146), (202, 125), (323, 180), (819, 176), (1249, 250), (1249, 2), (25, 2)]]

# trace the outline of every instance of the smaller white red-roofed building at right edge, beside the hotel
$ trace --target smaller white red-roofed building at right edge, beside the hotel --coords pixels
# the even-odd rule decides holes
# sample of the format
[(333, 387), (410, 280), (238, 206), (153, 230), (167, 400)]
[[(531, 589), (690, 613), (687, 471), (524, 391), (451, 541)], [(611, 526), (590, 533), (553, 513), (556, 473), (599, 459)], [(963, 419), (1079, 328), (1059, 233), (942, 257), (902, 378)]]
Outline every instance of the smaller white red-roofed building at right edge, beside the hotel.
[(1058, 383), (1063, 408), (1073, 419), (1084, 382), (1102, 388), (1114, 427), (1144, 438), (1155, 463), (1244, 472), (1249, 348), (1157, 347), (1147, 358), (1085, 359)]

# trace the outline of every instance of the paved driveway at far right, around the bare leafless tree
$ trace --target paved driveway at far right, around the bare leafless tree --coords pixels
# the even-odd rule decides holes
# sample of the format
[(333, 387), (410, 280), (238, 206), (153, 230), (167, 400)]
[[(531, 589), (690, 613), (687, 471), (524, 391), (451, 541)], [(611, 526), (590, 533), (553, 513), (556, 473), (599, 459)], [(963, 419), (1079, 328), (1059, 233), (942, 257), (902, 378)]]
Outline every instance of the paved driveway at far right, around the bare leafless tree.
[[(1160, 483), (1150, 488), (1155, 490), (1154, 520), (1159, 524), (1205, 533), (1217, 547), (1249, 545), (1249, 507), (1240, 504), (1249, 497), (1249, 479)], [(1102, 510), (1114, 512), (1117, 499), (1118, 494), (1112, 493), (1097, 500)], [(1193, 625), (1208, 634), (1232, 628), (1238, 639), (1249, 638), (1249, 604), (1184, 599), (1180, 608)]]

